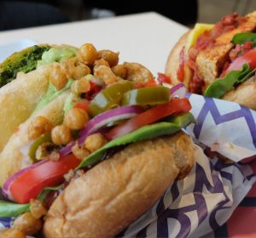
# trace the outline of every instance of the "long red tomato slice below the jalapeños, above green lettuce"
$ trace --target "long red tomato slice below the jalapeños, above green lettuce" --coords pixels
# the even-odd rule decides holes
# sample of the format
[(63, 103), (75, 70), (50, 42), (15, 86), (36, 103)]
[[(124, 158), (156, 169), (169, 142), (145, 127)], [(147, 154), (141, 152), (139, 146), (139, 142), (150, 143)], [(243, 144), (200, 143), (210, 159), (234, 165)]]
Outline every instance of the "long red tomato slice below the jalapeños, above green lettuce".
[(126, 133), (131, 133), (139, 127), (151, 124), (153, 122), (159, 121), (161, 118), (170, 116), (173, 114), (178, 114), (180, 112), (190, 111), (191, 105), (189, 99), (172, 99), (171, 102), (157, 105), (148, 111), (145, 111), (129, 121), (113, 127), (108, 133), (106, 133), (107, 139), (116, 139)]

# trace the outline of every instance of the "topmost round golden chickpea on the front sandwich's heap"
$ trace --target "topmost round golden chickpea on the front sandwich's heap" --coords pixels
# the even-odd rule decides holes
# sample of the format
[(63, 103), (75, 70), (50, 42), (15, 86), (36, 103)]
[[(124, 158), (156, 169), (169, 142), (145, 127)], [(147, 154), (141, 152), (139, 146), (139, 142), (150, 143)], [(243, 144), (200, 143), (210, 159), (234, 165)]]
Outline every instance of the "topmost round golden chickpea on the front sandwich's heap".
[(93, 65), (94, 61), (98, 59), (98, 53), (94, 45), (90, 43), (82, 45), (79, 48), (78, 59), (85, 65)]

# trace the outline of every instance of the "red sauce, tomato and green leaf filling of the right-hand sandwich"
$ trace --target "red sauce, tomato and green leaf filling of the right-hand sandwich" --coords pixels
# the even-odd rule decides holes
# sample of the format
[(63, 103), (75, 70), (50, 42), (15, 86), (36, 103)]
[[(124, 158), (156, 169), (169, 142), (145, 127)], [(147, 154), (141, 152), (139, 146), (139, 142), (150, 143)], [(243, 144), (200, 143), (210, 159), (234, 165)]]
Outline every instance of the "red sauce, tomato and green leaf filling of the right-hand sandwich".
[[(183, 71), (185, 65), (189, 67), (192, 73), (191, 80), (189, 81), (190, 92), (202, 94), (202, 88), (205, 86), (204, 79), (201, 77), (195, 63), (198, 54), (202, 50), (211, 49), (221, 45), (221, 42), (218, 42), (218, 37), (222, 36), (224, 33), (228, 33), (243, 26), (246, 20), (247, 17), (241, 17), (238, 14), (230, 14), (225, 16), (221, 21), (213, 26), (211, 30), (203, 31), (201, 35), (197, 36), (195, 43), (189, 47), (188, 59), (183, 59), (183, 51), (181, 52), (181, 60), (179, 69), (177, 71), (177, 77), (182, 81), (184, 74), (180, 73), (180, 71)], [(244, 30), (241, 29), (241, 32), (242, 31)], [(247, 75), (249, 74), (251, 76), (250, 73), (255, 68), (253, 65), (253, 48), (255, 47), (254, 33), (238, 33), (232, 38), (231, 42), (225, 43), (233, 44), (233, 48), (230, 50), (230, 53), (227, 55), (227, 57), (218, 63), (218, 77), (225, 80), (220, 83), (212, 82), (210, 85), (207, 85), (207, 89), (204, 93), (210, 97), (222, 97), (232, 88), (236, 87), (239, 83), (247, 80)], [(240, 72), (235, 73), (236, 76), (234, 74), (228, 76), (230, 71)], [(232, 79), (230, 80), (230, 78)], [(217, 93), (218, 96), (217, 94), (213, 93), (213, 91), (216, 89), (218, 92), (221, 92), (219, 94)]]

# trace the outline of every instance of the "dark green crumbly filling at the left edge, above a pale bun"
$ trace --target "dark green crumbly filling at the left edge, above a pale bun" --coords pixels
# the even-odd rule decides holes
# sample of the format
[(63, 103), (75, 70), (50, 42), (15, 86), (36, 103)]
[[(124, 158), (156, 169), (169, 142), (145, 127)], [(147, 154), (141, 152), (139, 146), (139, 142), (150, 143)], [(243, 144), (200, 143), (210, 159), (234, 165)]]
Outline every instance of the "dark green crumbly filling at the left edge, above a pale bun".
[(36, 69), (38, 60), (42, 59), (42, 55), (49, 48), (49, 45), (34, 45), (20, 52), (16, 52), (5, 59), (0, 64), (0, 88), (13, 81), (18, 72), (27, 73)]

